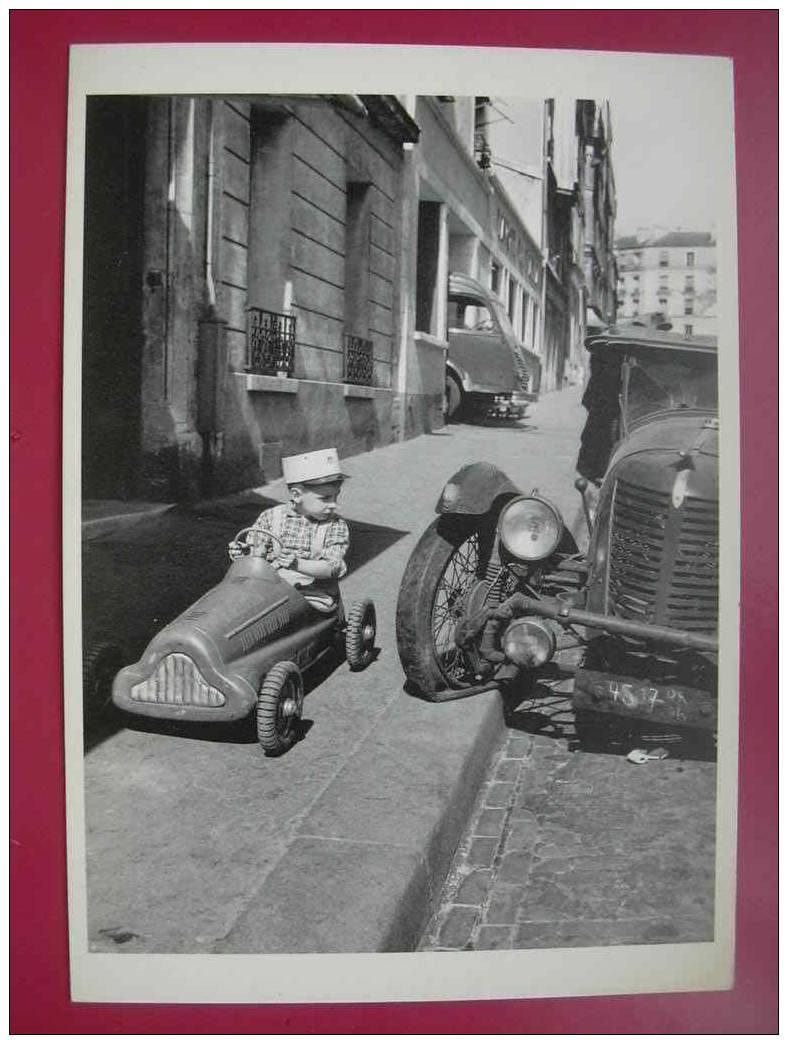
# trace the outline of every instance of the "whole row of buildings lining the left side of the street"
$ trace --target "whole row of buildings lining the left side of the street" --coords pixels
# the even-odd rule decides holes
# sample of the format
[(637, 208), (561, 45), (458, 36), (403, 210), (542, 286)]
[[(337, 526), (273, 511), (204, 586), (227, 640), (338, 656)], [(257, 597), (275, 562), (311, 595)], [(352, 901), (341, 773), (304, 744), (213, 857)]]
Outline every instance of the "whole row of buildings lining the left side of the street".
[(543, 390), (571, 376), (586, 311), (610, 311), (609, 114), (571, 100), (566, 138), (545, 108), (534, 230), (479, 150), (488, 105), (92, 98), (83, 495), (230, 492), (442, 427), (451, 272), (497, 293)]

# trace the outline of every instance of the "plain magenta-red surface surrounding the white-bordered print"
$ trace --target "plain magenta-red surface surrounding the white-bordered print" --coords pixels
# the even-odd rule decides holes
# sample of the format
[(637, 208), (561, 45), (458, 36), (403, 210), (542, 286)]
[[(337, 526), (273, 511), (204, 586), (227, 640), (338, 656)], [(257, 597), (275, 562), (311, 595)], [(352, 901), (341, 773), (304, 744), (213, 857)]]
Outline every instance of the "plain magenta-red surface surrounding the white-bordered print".
[[(775, 1033), (776, 11), (15, 11), (9, 19), (12, 1033)], [(732, 992), (334, 1007), (70, 1001), (60, 590), (67, 47), (121, 41), (494, 44), (735, 60), (743, 662)]]

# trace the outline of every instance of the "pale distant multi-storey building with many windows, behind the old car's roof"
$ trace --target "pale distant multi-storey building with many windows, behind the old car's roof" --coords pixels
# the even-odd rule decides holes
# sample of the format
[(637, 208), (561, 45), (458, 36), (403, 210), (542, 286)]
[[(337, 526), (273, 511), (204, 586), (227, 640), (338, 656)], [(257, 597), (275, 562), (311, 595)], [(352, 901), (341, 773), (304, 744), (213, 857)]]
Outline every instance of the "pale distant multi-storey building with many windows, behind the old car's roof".
[(715, 335), (716, 242), (708, 231), (641, 230), (618, 238), (618, 317), (666, 315), (674, 332)]

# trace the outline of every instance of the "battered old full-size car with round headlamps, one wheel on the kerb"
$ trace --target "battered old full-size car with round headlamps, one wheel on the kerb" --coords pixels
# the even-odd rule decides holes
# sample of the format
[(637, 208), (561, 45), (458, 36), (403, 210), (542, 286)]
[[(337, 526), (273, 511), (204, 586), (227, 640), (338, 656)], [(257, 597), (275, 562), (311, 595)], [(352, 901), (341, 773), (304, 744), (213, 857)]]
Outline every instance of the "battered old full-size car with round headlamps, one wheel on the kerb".
[(431, 700), (520, 677), (535, 690), (580, 646), (578, 715), (713, 731), (716, 343), (633, 325), (586, 346), (588, 548), (549, 497), (494, 465), (459, 469), (400, 585), (408, 683)]

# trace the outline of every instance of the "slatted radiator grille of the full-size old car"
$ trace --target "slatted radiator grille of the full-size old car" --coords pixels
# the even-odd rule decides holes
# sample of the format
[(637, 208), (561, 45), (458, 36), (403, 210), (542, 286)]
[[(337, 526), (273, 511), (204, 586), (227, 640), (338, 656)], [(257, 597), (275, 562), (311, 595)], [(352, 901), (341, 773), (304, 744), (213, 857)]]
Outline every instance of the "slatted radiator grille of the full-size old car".
[(618, 480), (610, 533), (608, 602), (622, 619), (693, 632), (717, 624), (717, 503)]

